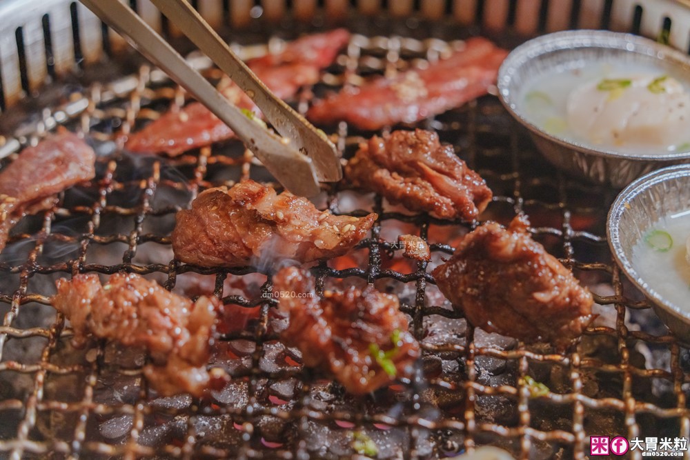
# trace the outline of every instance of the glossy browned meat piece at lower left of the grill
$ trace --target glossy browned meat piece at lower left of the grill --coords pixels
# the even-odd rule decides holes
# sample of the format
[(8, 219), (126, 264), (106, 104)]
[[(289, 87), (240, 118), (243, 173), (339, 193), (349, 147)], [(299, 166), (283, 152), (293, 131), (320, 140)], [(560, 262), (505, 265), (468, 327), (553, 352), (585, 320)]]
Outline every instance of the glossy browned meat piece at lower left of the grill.
[(101, 285), (97, 274), (59, 279), (52, 306), (70, 320), (72, 343), (81, 347), (88, 336), (124, 346), (143, 347), (153, 364), (144, 375), (159, 394), (188, 392), (200, 397), (206, 388), (226, 381), (219, 369), (206, 370), (217, 312), (215, 297), (196, 302), (168, 292), (137, 274), (116, 273)]

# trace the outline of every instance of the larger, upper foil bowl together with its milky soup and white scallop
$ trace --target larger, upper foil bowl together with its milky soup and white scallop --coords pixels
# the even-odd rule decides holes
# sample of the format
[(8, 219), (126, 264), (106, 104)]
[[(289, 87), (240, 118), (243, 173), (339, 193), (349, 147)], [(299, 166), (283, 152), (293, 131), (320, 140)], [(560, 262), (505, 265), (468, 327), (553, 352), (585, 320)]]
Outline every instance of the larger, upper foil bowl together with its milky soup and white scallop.
[(558, 168), (622, 188), (690, 162), (690, 58), (604, 30), (544, 35), (498, 74), (504, 106)]

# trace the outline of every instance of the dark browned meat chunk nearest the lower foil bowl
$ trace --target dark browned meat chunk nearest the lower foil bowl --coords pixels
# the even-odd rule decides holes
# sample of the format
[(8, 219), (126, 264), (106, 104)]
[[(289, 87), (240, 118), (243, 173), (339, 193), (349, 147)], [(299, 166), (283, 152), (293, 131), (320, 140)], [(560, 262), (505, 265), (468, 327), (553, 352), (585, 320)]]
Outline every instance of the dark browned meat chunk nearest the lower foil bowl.
[(592, 294), (534, 241), (525, 217), (484, 223), (433, 270), (443, 294), (474, 326), (565, 348), (593, 320)]

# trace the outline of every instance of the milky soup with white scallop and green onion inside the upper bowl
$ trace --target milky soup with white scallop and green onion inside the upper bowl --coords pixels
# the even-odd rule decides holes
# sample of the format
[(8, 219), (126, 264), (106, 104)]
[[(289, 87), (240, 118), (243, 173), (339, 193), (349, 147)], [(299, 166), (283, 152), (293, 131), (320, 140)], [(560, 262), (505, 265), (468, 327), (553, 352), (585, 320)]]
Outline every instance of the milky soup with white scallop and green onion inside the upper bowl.
[(690, 150), (684, 145), (690, 140), (685, 74), (624, 59), (593, 59), (542, 70), (523, 91), (521, 114), (560, 138), (644, 156)]

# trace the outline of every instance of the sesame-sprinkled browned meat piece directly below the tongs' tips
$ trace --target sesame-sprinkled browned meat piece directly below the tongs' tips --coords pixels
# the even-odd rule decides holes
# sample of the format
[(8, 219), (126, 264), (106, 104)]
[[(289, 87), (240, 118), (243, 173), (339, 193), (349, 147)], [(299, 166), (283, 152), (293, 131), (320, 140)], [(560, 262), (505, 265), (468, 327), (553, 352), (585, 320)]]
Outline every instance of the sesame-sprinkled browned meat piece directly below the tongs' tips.
[(205, 190), (190, 210), (178, 212), (172, 250), (179, 261), (204, 267), (281, 259), (306, 263), (346, 253), (376, 218), (336, 216), (304, 197), (246, 180), (230, 189)]

